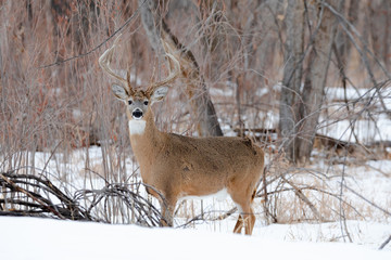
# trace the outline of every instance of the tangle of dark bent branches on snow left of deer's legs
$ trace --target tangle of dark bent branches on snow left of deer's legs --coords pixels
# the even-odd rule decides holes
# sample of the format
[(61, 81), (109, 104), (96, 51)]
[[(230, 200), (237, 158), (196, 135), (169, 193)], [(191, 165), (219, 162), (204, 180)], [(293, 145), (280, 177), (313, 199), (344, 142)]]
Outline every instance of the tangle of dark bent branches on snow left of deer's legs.
[[(160, 211), (139, 193), (141, 183), (63, 192), (45, 176), (0, 173), (0, 216), (28, 216), (159, 226)], [(88, 202), (88, 206), (86, 205)]]

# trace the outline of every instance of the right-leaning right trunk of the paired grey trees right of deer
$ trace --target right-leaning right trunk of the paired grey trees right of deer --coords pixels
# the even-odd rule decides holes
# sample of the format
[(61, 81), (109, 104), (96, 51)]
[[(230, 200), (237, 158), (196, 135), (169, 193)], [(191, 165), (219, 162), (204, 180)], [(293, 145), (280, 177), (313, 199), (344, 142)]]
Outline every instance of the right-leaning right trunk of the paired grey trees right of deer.
[[(341, 9), (341, 0), (329, 2), (336, 10)], [(321, 0), (316, 1), (319, 6), (319, 28), (314, 39), (313, 49), (310, 53), (310, 63), (302, 91), (301, 103), (298, 112), (298, 134), (295, 136), (295, 150), (293, 159), (298, 162), (306, 162), (313, 150), (320, 107), (325, 96), (327, 72), (331, 55), (331, 46), (337, 29), (336, 16), (325, 6)]]

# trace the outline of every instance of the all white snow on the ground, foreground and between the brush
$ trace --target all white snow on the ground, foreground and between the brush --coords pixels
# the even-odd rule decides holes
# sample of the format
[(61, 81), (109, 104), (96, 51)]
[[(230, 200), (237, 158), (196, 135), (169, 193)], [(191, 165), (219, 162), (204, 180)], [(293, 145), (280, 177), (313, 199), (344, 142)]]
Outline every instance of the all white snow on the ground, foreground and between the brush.
[[(332, 99), (343, 98), (341, 89), (332, 91), (329, 92)], [(354, 93), (348, 91), (348, 95)], [(386, 105), (390, 106), (390, 100), (386, 101)], [(273, 112), (270, 115), (277, 118)], [(367, 125), (363, 122), (363, 126), (360, 125), (362, 122), (357, 122), (358, 129), (362, 130), (362, 132), (357, 131), (358, 139), (364, 142), (366, 139), (390, 140), (390, 119), (382, 115), (377, 119), (377, 126), (374, 125), (375, 122), (366, 121)], [(267, 121), (273, 120), (267, 119)], [(349, 122), (349, 120), (340, 121), (321, 129), (320, 133), (326, 131), (327, 135), (344, 140)], [(228, 125), (223, 127), (230, 128)], [(105, 185), (102, 179), (105, 177), (102, 160), (106, 155), (102, 147), (97, 146), (73, 151), (66, 156), (60, 153), (53, 156), (50, 153), (35, 153), (34, 165), (37, 172), (39, 168), (45, 168), (53, 183), (66, 190), (68, 194), (74, 194), (80, 188), (99, 190)], [(112, 156), (114, 158), (117, 156), (115, 151)], [(349, 187), (390, 211), (391, 160), (363, 159), (360, 162), (360, 165), (341, 162), (331, 165), (324, 157), (316, 155), (312, 169), (321, 172), (321, 177), (306, 174), (306, 171), (303, 171), (292, 176), (291, 180), (301, 185), (317, 185), (338, 193), (341, 172), (344, 172), (344, 182)], [(110, 181), (139, 181), (137, 177), (131, 177), (138, 169), (130, 155), (126, 156), (122, 164), (124, 168), (118, 167), (121, 170), (115, 171), (118, 177), (110, 177)], [(29, 161), (27, 165), (30, 165)], [(30, 169), (26, 168), (26, 170)], [(125, 176), (119, 177), (119, 173)], [(391, 235), (390, 216), (353, 193), (344, 191), (343, 199), (353, 205), (362, 216), (357, 216), (351, 209), (345, 212), (348, 221), (343, 222), (335, 217), (333, 211), (339, 210), (338, 204), (332, 205), (336, 200), (324, 195), (306, 194), (306, 196), (317, 203), (316, 206), (323, 208), (320, 210), (327, 211), (330, 222), (294, 222), (300, 218), (294, 216), (295, 195), (291, 192), (278, 197), (281, 210), (278, 213), (285, 224), (266, 224), (257, 198), (254, 203), (257, 218), (252, 237), (231, 234), (237, 214), (223, 221), (200, 221), (187, 229), (147, 229), (136, 225), (2, 217), (0, 218), (0, 259), (245, 259), (250, 257), (291, 260), (391, 259), (391, 243), (383, 250), (377, 250)], [(330, 205), (327, 205), (328, 203)], [(229, 210), (232, 206), (230, 199), (223, 203), (214, 199), (203, 202), (205, 211), (216, 210), (217, 214)], [(199, 202), (189, 202), (188, 205), (182, 206), (176, 216), (176, 226), (192, 218), (189, 212), (193, 209), (199, 213), (200, 208)], [(299, 208), (297, 211), (302, 209)], [(290, 223), (290, 219), (294, 223)], [(346, 226), (342, 226), (344, 224)], [(346, 231), (353, 243), (343, 243), (349, 242)]]

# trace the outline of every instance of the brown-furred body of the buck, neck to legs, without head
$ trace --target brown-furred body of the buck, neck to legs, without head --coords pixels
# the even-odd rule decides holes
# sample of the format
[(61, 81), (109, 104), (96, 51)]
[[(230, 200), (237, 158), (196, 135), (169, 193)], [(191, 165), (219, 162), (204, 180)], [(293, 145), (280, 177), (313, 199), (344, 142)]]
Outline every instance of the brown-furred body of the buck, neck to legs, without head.
[[(130, 113), (128, 117), (131, 120)], [(164, 222), (173, 225), (173, 211), (180, 197), (203, 196), (227, 188), (243, 210), (234, 231), (240, 233), (243, 222), (248, 221), (245, 234), (251, 234), (255, 222), (251, 203), (264, 166), (262, 148), (250, 139), (190, 138), (161, 132), (151, 109), (143, 119), (147, 121), (144, 133), (130, 134), (130, 142), (142, 181), (165, 197), (166, 205), (161, 202)], [(156, 193), (151, 194), (160, 199)]]

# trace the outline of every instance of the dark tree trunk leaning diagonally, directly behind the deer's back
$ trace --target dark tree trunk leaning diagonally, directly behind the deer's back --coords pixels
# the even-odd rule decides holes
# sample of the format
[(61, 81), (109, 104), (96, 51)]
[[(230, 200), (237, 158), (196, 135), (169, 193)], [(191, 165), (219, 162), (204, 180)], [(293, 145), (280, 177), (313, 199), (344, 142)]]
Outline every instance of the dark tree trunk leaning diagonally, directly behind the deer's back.
[[(139, 0), (139, 4), (143, 1)], [(162, 54), (163, 44), (161, 39), (164, 40), (171, 48), (165, 52), (175, 55), (180, 65), (184, 79), (186, 80), (186, 92), (190, 101), (190, 114), (195, 121), (197, 131), (200, 136), (218, 136), (223, 135), (219, 127), (216, 112), (212, 103), (211, 96), (206, 89), (203, 77), (200, 75), (200, 67), (191, 53), (187, 50), (178, 39), (171, 32), (168, 26), (162, 20), (161, 28), (157, 26), (157, 20), (153, 15), (152, 10), (156, 10), (156, 2), (153, 0), (148, 1), (149, 5), (144, 5), (141, 10), (141, 20), (147, 30), (147, 35), (152, 48)], [(161, 16), (161, 15), (160, 15)]]

